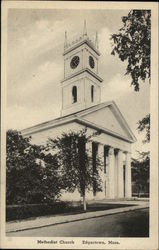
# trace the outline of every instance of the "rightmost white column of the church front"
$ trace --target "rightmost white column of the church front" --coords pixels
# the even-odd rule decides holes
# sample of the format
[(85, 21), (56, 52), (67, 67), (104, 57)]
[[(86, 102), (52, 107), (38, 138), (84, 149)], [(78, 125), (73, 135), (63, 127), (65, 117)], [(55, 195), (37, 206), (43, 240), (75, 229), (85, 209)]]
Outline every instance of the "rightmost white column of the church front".
[(125, 197), (131, 198), (131, 154), (126, 152), (125, 164)]

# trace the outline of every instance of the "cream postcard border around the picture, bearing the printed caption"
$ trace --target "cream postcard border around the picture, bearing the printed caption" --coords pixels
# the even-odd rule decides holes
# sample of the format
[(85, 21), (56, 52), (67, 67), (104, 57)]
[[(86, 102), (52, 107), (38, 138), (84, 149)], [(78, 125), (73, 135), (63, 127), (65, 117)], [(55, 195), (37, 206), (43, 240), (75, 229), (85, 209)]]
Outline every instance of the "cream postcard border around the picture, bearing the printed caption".
[[(150, 174), (150, 237), (113, 238), (120, 245), (82, 245), (84, 238), (63, 237), (74, 240), (74, 245), (37, 244), (37, 239), (52, 238), (6, 237), (5, 236), (5, 109), (6, 109), (6, 72), (7, 72), (7, 11), (9, 8), (36, 9), (151, 9), (152, 10), (152, 59), (151, 59), (151, 174)], [(155, 2), (47, 2), (47, 1), (4, 1), (2, 2), (2, 147), (1, 147), (1, 248), (9, 249), (158, 249), (158, 3)], [(54, 238), (55, 239), (55, 238)], [(57, 237), (56, 239), (60, 239)], [(94, 238), (89, 238), (89, 240)], [(102, 238), (95, 238), (102, 240)], [(105, 238), (107, 241), (112, 238)]]

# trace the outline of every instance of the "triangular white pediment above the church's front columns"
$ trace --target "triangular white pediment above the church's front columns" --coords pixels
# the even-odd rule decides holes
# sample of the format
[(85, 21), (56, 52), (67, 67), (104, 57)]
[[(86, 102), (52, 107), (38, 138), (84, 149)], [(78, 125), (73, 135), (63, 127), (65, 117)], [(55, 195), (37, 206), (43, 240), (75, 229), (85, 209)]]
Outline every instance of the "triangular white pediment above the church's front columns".
[(80, 117), (85, 121), (99, 126), (99, 128), (111, 131), (114, 134), (127, 138), (128, 140), (136, 140), (114, 102), (111, 102), (109, 105), (99, 106), (91, 112), (81, 114)]

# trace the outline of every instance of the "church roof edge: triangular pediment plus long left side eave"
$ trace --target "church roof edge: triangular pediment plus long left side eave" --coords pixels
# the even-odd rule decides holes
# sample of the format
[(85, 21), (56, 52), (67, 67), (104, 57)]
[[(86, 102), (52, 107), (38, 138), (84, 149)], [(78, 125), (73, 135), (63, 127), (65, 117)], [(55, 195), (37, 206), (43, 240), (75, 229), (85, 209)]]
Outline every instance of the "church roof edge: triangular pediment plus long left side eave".
[(77, 122), (94, 128), (95, 130), (102, 131), (103, 133), (111, 134), (130, 143), (136, 141), (134, 134), (114, 101), (100, 103), (74, 114), (59, 117), (24, 129), (21, 132), (23, 135), (31, 135), (72, 122)]

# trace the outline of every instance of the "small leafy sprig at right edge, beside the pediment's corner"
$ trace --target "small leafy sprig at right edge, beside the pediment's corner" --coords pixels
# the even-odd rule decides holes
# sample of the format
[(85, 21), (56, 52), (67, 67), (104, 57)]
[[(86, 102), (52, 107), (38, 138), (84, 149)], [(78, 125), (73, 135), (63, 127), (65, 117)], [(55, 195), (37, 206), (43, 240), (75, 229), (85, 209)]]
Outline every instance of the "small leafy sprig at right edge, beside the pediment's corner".
[(150, 114), (138, 122), (138, 131), (146, 131), (146, 138), (143, 143), (150, 142)]

